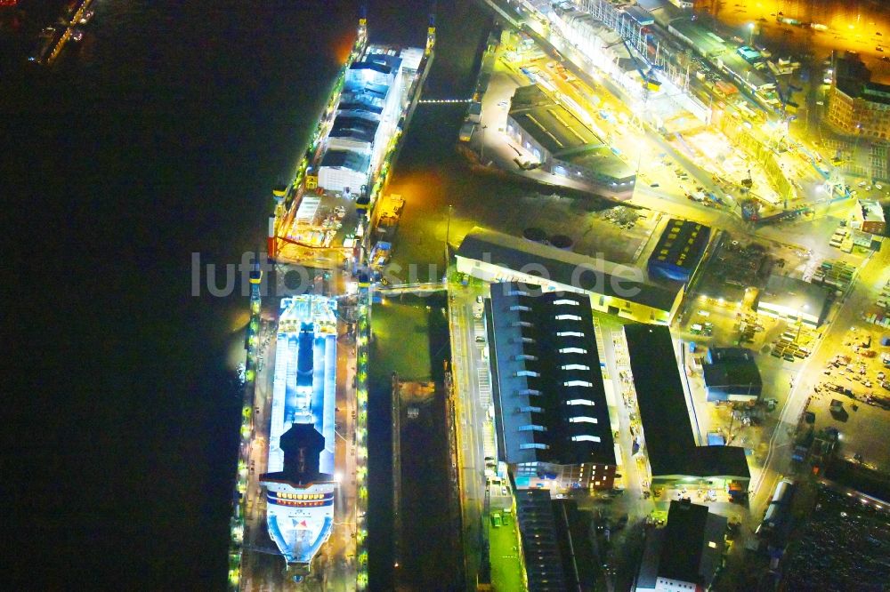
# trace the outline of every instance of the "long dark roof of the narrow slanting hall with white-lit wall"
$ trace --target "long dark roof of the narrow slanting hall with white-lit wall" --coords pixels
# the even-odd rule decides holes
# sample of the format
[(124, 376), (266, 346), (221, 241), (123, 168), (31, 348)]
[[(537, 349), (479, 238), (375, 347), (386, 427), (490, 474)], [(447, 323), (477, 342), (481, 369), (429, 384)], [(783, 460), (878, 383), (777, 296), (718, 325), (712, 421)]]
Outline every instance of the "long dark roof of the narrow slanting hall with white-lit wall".
[[(491, 261), (514, 271), (537, 266), (550, 279), (578, 290), (629, 300), (651, 308), (670, 311), (679, 287), (662, 288), (643, 282), (643, 273), (630, 266), (595, 260), (578, 253), (538, 244), (518, 236), (473, 228), (457, 248), (457, 256)], [(635, 295), (631, 296), (633, 293)]]

